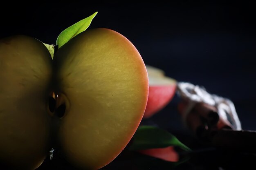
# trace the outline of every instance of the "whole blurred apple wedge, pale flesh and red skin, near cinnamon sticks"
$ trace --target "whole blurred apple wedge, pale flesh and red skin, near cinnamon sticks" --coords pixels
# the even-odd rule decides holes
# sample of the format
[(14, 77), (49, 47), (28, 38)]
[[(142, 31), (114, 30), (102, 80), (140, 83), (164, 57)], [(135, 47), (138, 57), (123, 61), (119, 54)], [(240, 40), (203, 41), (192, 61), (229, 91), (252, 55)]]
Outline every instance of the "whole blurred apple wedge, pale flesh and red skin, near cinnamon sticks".
[(149, 79), (148, 103), (143, 118), (149, 118), (164, 108), (175, 95), (176, 80), (164, 75), (164, 71), (146, 65)]

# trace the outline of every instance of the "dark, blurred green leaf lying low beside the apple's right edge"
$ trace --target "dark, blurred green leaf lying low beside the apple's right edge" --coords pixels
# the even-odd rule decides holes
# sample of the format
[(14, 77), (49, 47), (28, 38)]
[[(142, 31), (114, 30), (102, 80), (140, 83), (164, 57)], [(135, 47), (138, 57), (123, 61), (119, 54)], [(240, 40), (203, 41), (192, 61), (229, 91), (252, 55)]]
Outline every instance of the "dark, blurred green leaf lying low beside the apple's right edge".
[(129, 149), (145, 150), (165, 148), (168, 146), (178, 146), (185, 151), (191, 150), (168, 131), (154, 126), (139, 126), (132, 137), (132, 143)]

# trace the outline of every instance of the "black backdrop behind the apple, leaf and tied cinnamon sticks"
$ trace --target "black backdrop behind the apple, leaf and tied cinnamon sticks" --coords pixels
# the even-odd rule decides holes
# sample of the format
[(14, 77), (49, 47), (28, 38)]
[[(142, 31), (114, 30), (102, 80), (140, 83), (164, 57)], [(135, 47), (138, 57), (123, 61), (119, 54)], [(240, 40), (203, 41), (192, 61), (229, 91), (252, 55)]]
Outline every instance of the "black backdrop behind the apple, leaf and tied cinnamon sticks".
[[(146, 64), (231, 99), (243, 129), (256, 130), (255, 7), (253, 1), (7, 2), (0, 10), (0, 38), (24, 34), (54, 44), (61, 31), (98, 11), (89, 29), (113, 29), (136, 46)], [(144, 123), (177, 136), (186, 132), (178, 100)]]

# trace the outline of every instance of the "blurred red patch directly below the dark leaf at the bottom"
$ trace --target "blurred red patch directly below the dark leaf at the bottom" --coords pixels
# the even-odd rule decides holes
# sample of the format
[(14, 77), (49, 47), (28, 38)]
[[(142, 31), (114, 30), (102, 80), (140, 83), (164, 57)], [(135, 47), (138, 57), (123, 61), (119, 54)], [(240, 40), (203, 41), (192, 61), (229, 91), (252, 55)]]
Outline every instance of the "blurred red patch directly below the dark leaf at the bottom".
[(174, 150), (173, 146), (168, 146), (166, 148), (153, 148), (153, 149), (139, 150), (138, 152), (144, 155), (148, 155), (150, 157), (162, 159), (164, 161), (170, 161), (170, 162), (179, 161), (179, 154)]

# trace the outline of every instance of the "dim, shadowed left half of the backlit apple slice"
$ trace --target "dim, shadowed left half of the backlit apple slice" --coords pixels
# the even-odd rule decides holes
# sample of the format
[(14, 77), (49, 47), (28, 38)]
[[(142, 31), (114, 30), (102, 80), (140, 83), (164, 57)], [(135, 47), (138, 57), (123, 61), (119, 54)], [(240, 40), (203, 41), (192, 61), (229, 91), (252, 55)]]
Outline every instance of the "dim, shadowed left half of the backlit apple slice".
[(0, 164), (8, 169), (36, 169), (49, 152), (51, 60), (34, 38), (0, 40)]

